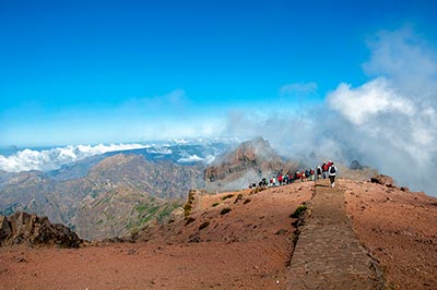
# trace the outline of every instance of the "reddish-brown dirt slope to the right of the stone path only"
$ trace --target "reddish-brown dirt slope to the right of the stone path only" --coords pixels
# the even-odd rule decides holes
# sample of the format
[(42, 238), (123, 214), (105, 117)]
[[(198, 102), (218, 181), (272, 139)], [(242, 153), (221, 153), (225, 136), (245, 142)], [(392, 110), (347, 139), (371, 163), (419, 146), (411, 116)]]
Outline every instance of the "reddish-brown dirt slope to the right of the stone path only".
[(362, 242), (395, 289), (437, 289), (437, 198), (340, 181)]

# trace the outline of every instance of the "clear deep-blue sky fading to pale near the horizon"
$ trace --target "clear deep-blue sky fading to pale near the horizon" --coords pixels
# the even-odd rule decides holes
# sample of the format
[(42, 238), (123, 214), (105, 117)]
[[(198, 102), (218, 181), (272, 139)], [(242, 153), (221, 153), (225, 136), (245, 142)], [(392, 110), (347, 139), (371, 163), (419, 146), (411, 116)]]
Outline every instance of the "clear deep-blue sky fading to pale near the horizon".
[(0, 146), (226, 135), (233, 113), (298, 114), (359, 86), (367, 45), (436, 1), (0, 0)]

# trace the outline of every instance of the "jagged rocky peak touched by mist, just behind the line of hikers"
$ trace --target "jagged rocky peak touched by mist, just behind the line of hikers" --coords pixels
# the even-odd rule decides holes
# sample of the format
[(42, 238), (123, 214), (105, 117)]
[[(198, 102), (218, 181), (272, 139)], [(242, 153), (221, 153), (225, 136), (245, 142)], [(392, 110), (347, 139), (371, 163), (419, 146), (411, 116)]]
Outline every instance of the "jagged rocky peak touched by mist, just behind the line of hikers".
[(297, 162), (285, 161), (259, 137), (241, 143), (235, 150), (218, 158), (204, 170), (208, 191), (232, 191), (247, 188), (262, 178), (294, 172)]

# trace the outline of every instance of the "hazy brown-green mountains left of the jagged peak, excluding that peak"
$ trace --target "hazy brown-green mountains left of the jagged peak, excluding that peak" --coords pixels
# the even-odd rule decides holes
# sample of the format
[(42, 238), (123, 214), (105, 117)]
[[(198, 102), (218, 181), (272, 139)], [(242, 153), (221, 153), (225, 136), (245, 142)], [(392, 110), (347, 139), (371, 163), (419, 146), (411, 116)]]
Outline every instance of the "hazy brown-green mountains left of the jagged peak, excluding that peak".
[(109, 152), (51, 171), (0, 171), (0, 215), (47, 216), (84, 239), (130, 234), (204, 186), (208, 162), (233, 142), (147, 145)]

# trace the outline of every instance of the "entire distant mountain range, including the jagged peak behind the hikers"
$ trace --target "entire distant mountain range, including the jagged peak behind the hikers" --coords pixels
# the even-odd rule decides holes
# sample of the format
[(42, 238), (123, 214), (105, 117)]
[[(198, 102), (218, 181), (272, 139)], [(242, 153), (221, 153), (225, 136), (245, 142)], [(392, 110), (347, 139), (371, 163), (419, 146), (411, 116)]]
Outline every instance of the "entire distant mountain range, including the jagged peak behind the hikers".
[(166, 220), (190, 190), (241, 190), (303, 168), (261, 137), (241, 144), (147, 145), (93, 155), (46, 172), (0, 171), (0, 215), (47, 216), (87, 240), (130, 235), (153, 220)]

